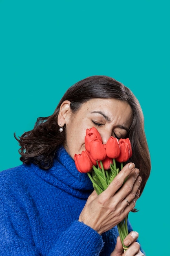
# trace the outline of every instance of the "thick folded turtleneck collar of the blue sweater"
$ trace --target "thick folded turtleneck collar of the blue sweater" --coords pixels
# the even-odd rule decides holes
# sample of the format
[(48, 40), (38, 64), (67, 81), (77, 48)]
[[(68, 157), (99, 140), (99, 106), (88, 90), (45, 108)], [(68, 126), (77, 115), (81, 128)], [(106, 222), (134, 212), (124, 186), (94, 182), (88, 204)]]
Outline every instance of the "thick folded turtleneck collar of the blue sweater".
[(46, 182), (78, 198), (86, 199), (93, 191), (88, 175), (77, 171), (74, 160), (64, 147), (57, 151), (53, 167), (44, 171), (36, 166), (35, 172)]

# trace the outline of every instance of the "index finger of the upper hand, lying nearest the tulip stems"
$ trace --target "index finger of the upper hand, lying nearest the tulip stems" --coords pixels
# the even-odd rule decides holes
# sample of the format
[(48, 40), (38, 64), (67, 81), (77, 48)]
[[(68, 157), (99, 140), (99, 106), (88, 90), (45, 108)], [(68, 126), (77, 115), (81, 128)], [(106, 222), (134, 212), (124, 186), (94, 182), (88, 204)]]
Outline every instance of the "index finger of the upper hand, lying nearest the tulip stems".
[[(126, 164), (103, 193), (105, 193), (106, 196), (108, 196), (108, 198), (112, 197), (117, 192), (117, 190), (122, 186), (122, 184), (124, 183), (124, 180), (126, 179), (126, 177), (130, 175), (130, 173), (133, 171), (134, 168), (135, 168), (135, 164), (133, 163)], [(128, 193), (129, 192), (130, 191), (128, 191)], [(125, 195), (127, 194), (125, 193)]]

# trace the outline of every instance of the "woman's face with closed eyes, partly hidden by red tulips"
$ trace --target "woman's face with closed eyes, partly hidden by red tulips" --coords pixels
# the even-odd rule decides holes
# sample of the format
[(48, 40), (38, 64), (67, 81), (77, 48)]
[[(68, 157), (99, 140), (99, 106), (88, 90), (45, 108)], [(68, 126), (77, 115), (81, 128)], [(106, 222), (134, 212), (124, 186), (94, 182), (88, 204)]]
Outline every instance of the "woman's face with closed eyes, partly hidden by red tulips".
[(110, 136), (124, 138), (132, 122), (132, 109), (125, 101), (117, 99), (91, 99), (73, 113), (65, 113), (66, 141), (64, 148), (73, 158), (85, 150), (86, 129), (93, 126), (99, 131), (103, 144)]

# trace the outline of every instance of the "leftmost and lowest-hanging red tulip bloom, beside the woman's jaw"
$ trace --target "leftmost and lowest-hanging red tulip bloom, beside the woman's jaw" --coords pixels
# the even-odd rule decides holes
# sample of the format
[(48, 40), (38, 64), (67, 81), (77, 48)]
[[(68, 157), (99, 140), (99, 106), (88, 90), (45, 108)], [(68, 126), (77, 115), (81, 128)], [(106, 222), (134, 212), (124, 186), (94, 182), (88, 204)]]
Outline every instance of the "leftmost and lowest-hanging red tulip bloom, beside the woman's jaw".
[(93, 163), (86, 151), (82, 151), (82, 154), (75, 154), (74, 161), (75, 166), (80, 173), (88, 173), (93, 168)]

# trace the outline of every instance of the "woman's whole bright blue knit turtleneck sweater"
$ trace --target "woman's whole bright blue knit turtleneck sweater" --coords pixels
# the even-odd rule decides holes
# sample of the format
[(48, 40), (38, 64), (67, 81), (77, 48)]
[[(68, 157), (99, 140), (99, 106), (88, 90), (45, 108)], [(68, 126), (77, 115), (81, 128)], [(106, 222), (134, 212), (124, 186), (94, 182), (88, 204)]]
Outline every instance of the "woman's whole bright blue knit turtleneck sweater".
[(64, 148), (48, 171), (34, 164), (2, 171), (0, 256), (110, 256), (117, 226), (100, 236), (78, 221), (92, 191)]

